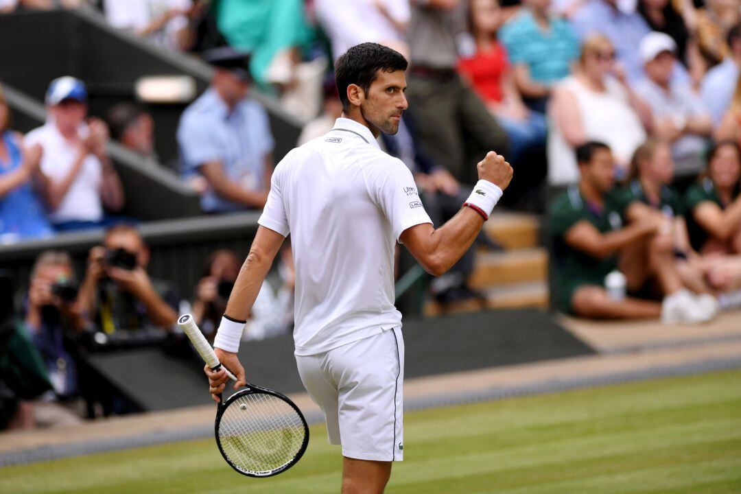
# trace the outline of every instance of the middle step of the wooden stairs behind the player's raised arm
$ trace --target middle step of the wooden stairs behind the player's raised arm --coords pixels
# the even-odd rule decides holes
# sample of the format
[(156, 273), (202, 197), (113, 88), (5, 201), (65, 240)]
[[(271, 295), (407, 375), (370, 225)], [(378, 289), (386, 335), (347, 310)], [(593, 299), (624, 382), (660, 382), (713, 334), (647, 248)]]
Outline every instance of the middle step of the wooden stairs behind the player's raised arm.
[(504, 252), (477, 252), (471, 287), (487, 290), (501, 284), (548, 279), (548, 252), (542, 247)]

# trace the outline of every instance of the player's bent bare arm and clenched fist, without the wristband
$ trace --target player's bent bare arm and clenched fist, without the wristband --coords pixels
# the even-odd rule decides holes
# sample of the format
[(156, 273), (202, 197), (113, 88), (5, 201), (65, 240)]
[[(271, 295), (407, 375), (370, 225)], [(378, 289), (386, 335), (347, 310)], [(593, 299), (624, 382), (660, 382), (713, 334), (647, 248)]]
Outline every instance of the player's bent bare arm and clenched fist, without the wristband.
[[(505, 190), (512, 178), (512, 167), (503, 156), (491, 151), (477, 165), (479, 180)], [(484, 218), (471, 207), (463, 207), (442, 227), (423, 223), (410, 227), (400, 240), (428, 273), (440, 276), (465, 254), (484, 225)]]

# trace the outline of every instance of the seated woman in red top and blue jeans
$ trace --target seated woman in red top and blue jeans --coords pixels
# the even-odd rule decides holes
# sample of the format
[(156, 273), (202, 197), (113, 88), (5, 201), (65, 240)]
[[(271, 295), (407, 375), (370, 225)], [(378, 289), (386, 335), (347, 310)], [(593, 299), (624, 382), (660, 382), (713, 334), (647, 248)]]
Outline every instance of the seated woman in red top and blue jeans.
[(473, 90), (507, 132), (510, 142), (507, 159), (517, 164), (523, 153), (545, 147), (545, 116), (528, 110), (519, 96), (508, 53), (496, 39), (502, 24), (502, 10), (497, 0), (471, 0), (470, 7), (470, 29), (476, 40), (476, 54), (460, 59), (458, 70), (471, 82)]

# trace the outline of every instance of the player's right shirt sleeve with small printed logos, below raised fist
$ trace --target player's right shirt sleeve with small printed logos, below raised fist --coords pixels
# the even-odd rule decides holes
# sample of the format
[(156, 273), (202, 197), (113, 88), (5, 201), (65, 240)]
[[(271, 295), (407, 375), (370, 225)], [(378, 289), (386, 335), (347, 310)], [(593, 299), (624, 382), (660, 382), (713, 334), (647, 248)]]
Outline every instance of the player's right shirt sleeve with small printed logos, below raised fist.
[(379, 159), (364, 172), (368, 193), (391, 224), (393, 238), (399, 241), (407, 228), (432, 223), (419, 199), (412, 173), (400, 159)]

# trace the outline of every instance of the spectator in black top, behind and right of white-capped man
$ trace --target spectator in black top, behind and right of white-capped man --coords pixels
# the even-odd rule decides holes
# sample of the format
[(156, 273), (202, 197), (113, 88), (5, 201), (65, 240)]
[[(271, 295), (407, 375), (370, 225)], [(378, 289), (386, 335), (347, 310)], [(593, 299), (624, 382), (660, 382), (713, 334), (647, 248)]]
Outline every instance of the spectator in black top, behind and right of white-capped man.
[[(694, 84), (699, 84), (705, 73), (697, 40), (688, 30), (688, 22), (677, 11), (671, 0), (639, 0), (637, 12), (652, 31), (671, 36), (677, 46), (677, 59), (689, 71)], [(691, 22), (691, 19), (688, 19)], [(692, 24), (690, 24), (692, 25)]]

